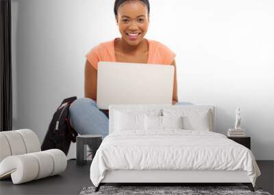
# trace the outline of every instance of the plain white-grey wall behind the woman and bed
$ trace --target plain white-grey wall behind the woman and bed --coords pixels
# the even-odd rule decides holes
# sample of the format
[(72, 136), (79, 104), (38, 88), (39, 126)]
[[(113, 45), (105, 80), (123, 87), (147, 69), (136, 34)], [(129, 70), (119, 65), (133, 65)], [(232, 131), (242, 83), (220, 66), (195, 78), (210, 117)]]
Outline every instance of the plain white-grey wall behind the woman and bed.
[[(147, 38), (177, 53), (179, 101), (213, 103), (217, 131), (251, 136), (256, 159), (274, 159), (274, 1), (150, 0)], [(119, 37), (114, 0), (12, 0), (14, 129), (44, 137), (62, 99), (84, 95), (84, 55)]]

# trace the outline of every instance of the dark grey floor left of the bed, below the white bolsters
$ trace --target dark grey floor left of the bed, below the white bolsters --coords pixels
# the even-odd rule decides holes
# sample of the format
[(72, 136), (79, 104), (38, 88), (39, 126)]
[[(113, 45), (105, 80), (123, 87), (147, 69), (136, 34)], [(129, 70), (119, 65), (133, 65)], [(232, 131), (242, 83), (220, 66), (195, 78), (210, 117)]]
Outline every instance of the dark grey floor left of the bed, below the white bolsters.
[(66, 171), (60, 175), (12, 185), (11, 179), (0, 181), (0, 194), (79, 194), (83, 187), (92, 185), (90, 164), (77, 166), (69, 160)]

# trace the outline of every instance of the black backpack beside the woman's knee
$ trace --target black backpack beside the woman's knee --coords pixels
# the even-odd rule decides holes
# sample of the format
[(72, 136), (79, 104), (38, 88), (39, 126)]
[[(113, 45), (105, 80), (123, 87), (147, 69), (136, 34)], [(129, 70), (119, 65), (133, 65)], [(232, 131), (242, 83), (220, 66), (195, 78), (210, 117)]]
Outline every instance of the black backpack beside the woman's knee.
[(53, 114), (49, 129), (42, 142), (42, 151), (58, 148), (67, 155), (71, 142), (76, 142), (77, 132), (71, 127), (69, 120), (69, 106), (76, 99), (76, 96), (64, 99)]

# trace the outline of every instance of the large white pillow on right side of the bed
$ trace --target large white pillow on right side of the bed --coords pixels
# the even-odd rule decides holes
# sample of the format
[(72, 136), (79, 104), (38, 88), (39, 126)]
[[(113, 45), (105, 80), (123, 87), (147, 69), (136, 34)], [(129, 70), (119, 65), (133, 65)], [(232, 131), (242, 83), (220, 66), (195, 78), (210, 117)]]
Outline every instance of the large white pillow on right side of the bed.
[(182, 116), (183, 129), (213, 131), (210, 109), (163, 109), (163, 116)]

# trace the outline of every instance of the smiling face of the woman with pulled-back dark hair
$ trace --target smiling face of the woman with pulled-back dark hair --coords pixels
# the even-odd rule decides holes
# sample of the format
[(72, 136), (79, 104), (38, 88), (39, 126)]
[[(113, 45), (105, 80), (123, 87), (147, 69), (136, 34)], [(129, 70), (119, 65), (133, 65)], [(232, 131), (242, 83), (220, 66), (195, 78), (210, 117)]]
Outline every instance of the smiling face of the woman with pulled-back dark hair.
[(132, 46), (137, 45), (149, 27), (147, 6), (141, 1), (125, 1), (119, 6), (116, 21), (123, 40)]

